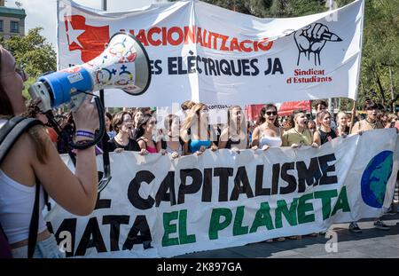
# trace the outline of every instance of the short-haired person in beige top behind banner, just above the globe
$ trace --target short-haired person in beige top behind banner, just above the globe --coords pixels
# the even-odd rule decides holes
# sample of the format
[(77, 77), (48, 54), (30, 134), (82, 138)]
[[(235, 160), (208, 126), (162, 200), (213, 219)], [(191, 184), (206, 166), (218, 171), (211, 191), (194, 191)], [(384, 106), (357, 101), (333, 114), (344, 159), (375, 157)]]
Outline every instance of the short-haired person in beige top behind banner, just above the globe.
[[(364, 131), (383, 129), (384, 126), (381, 122), (377, 121), (379, 114), (379, 105), (372, 100), (366, 100), (364, 103), (364, 110), (366, 110), (366, 118), (362, 121), (356, 122), (352, 128), (352, 133), (362, 135)], [(374, 227), (380, 230), (389, 230), (389, 227), (384, 224), (379, 217), (374, 219)], [(356, 222), (352, 222), (349, 225), (349, 231), (354, 233), (361, 233), (359, 225)]]

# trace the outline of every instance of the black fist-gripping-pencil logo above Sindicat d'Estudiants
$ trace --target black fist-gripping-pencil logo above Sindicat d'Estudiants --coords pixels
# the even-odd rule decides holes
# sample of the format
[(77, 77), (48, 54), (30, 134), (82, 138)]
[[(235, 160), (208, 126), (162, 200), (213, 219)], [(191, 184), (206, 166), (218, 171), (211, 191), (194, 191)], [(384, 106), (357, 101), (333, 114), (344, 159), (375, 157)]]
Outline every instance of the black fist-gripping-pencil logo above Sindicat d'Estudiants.
[(330, 33), (328, 28), (320, 23), (315, 23), (306, 28), (297, 30), (293, 38), (295, 39), (299, 51), (296, 65), (300, 64), (302, 53), (308, 60), (310, 60), (311, 53), (313, 53), (315, 66), (320, 65), (320, 51), (325, 47), (325, 43), (327, 41), (342, 41), (338, 35)]

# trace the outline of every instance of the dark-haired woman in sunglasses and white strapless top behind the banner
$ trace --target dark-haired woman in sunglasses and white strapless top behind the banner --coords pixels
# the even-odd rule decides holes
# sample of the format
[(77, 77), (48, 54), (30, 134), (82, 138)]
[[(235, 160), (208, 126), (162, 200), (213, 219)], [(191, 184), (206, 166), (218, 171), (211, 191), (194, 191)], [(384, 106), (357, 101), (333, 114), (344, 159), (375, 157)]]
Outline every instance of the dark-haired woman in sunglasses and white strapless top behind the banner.
[(278, 125), (278, 111), (274, 105), (263, 106), (258, 118), (258, 127), (252, 135), (252, 148), (267, 150), (282, 145), (283, 131)]

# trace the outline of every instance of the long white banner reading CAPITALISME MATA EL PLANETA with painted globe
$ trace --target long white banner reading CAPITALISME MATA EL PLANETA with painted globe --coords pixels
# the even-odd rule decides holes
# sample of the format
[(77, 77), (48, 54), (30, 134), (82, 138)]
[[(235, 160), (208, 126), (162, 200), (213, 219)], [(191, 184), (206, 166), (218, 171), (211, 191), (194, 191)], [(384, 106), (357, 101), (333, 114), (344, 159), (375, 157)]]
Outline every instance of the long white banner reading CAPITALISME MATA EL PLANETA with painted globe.
[[(318, 233), (379, 217), (399, 169), (395, 129), (336, 138), (320, 148), (111, 154), (97, 209), (46, 217), (68, 256), (153, 257)], [(98, 158), (98, 168), (101, 168)]]

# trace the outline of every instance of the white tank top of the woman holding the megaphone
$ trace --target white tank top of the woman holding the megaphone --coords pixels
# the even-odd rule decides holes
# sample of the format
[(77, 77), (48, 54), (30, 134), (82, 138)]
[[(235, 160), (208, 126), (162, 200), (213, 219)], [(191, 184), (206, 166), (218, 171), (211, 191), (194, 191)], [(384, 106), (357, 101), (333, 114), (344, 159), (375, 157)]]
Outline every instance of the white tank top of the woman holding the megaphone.
[[(0, 120), (0, 128), (4, 125)], [(43, 188), (40, 190), (39, 209), (44, 207)], [(35, 202), (35, 185), (22, 185), (0, 170), (0, 222), (10, 244), (25, 241), (29, 235), (30, 218)], [(46, 229), (43, 214), (39, 211), (39, 229)]]

